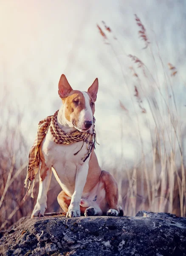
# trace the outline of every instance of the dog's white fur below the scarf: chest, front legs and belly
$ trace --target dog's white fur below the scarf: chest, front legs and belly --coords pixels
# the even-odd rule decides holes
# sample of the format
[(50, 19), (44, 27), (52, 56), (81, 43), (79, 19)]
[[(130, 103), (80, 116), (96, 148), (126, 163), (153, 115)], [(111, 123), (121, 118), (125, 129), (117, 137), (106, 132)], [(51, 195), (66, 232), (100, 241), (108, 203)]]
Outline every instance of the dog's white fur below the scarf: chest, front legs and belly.
[[(48, 130), (45, 138), (42, 141), (42, 153), (45, 157), (45, 163), (49, 170), (47, 171), (47, 176), (45, 179), (39, 183), (39, 194), (37, 198), (37, 204), (34, 207), (32, 216), (37, 216), (39, 213), (44, 215), (45, 209), (47, 208), (47, 191), (48, 184), (51, 179), (51, 170), (56, 177), (62, 190), (73, 200), (71, 200), (71, 205), (68, 211), (68, 217), (79, 216), (79, 205), (81, 204), (81, 198), (86, 201), (85, 207), (94, 207), (95, 214), (102, 215), (102, 211), (107, 210), (107, 202), (105, 196), (105, 189), (98, 183), (91, 193), (83, 194), (82, 190), (85, 185), (88, 171), (89, 158), (83, 163), (82, 157), (87, 153), (87, 143), (84, 143), (82, 147), (82, 141), (77, 143), (72, 143), (69, 145), (56, 144), (53, 142), (51, 137), (51, 132)], [(79, 149), (82, 147), (81, 151)], [(78, 154), (74, 155), (79, 151)], [(42, 168), (42, 167), (41, 167)], [(77, 176), (77, 177), (76, 177)], [(76, 185), (76, 188), (74, 186)], [(99, 191), (99, 195), (97, 195)], [(97, 195), (97, 200), (93, 201)], [(101, 205), (101, 209), (99, 207)], [(83, 205), (82, 205), (83, 206)]]

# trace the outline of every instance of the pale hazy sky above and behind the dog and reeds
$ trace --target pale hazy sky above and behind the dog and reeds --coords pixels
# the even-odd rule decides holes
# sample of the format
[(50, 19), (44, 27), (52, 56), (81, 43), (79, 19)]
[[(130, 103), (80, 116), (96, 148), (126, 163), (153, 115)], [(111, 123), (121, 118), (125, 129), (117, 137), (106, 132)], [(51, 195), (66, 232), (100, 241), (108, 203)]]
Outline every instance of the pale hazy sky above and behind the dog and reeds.
[[(138, 38), (134, 14), (147, 29), (147, 49)], [(108, 40), (96, 26), (104, 29), (103, 20), (112, 29), (106, 33)], [(153, 98), (152, 91), (161, 105), (163, 125), (169, 128), (158, 93), (159, 87), (166, 96), (165, 77), (175, 92), (184, 132), (185, 24), (184, 0), (1, 0), (0, 97), (8, 91), (6, 106), (11, 104), (15, 112), (24, 113), (21, 129), (28, 147), (34, 142), (39, 120), (60, 108), (57, 87), (62, 73), (78, 90), (87, 90), (96, 77), (99, 79), (95, 117), (100, 144), (96, 154), (101, 164), (115, 164), (121, 156), (130, 164), (140, 160), (139, 131), (145, 152), (150, 152), (149, 127), (154, 127), (154, 121), (147, 97)], [(148, 67), (146, 77), (129, 54), (138, 56)], [(176, 67), (179, 76), (170, 78), (168, 63)], [(130, 67), (139, 73), (140, 85)], [(134, 97), (135, 85), (146, 114), (141, 113)], [(127, 111), (121, 109), (119, 101)]]

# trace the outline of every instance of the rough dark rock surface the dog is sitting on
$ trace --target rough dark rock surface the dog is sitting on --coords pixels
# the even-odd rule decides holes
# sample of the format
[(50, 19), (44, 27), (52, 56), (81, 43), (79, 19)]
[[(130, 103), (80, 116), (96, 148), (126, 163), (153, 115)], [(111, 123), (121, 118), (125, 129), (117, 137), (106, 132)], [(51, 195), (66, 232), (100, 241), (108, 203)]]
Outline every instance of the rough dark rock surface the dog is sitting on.
[(23, 217), (0, 233), (0, 255), (186, 256), (186, 218), (153, 212), (136, 217)]

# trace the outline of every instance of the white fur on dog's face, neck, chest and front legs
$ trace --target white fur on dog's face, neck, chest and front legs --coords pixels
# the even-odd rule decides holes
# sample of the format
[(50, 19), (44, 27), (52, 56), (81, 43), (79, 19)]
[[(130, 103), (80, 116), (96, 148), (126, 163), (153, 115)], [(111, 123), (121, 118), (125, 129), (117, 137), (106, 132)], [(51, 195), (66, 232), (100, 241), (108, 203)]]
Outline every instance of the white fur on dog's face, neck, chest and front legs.
[[(86, 120), (93, 121), (93, 114), (90, 108), (90, 99), (88, 94), (83, 92), (85, 97), (85, 110), (80, 113), (81, 122)], [(72, 132), (75, 130), (68, 120), (65, 119), (64, 108), (59, 109), (57, 122), (59, 127), (65, 132)], [(81, 160), (87, 153), (87, 143), (83, 141), (77, 143), (71, 143), (69, 145), (56, 144), (52, 140), (50, 129), (48, 129), (45, 138), (42, 140), (41, 148), (44, 155), (45, 164), (48, 167), (47, 176), (39, 182), (39, 195), (37, 198), (37, 204), (34, 207), (34, 211), (31, 216), (37, 216), (39, 214), (44, 215), (47, 207), (47, 191), (51, 180), (51, 170), (54, 172), (54, 176), (58, 181), (63, 191), (71, 198), (71, 203), (68, 208), (67, 217), (80, 216), (80, 201), (82, 198), (82, 192), (87, 179), (89, 160), (85, 163)], [(79, 149), (82, 149), (79, 151)], [(74, 155), (77, 151), (78, 154)], [(42, 166), (41, 166), (42, 168)]]

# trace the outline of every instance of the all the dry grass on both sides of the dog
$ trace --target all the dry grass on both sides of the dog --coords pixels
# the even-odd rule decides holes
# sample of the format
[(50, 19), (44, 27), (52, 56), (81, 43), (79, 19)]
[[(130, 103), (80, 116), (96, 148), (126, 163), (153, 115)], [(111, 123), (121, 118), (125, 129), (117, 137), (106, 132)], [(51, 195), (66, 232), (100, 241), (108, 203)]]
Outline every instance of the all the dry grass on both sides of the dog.
[[(107, 166), (106, 161), (104, 168), (110, 171), (118, 181), (119, 200), (123, 205), (125, 215), (135, 215), (139, 210), (148, 210), (172, 212), (180, 216), (186, 216), (186, 173), (183, 164), (182, 140), (184, 134), (181, 134), (171, 80), (178, 76), (178, 71), (176, 67), (169, 63), (167, 67), (170, 73), (167, 73), (166, 65), (163, 64), (161, 56), (158, 52), (154, 54), (147, 31), (137, 15), (135, 15), (135, 20), (140, 28), (139, 36), (144, 41), (144, 54), (148, 50), (152, 60), (155, 61), (158, 58), (161, 63), (164, 84), (163, 88), (160, 87), (155, 72), (151, 72), (144, 61), (134, 55), (128, 55), (132, 65), (132, 67), (129, 67), (131, 84), (134, 83), (131, 102), (135, 118), (138, 121), (138, 127), (136, 128), (141, 145), (141, 162), (136, 163), (134, 160), (133, 168), (128, 168), (121, 152), (121, 158), (115, 161), (122, 163), (121, 170), (118, 170), (118, 166), (113, 166), (112, 168)], [(103, 26), (103, 29), (101, 26)], [(115, 52), (109, 39), (111, 36), (118, 42), (113, 31), (104, 22), (100, 26), (97, 25), (97, 28), (104, 42), (110, 44), (111, 49)], [(122, 72), (120, 61), (119, 64)], [(125, 81), (123, 72), (122, 75)], [(152, 92), (150, 96), (146, 93), (147, 88), (142, 86), (143, 79), (148, 81), (149, 78), (150, 81), (153, 81), (153, 87), (149, 82)], [(157, 95), (161, 99), (160, 101), (157, 100)], [(20, 130), (20, 122), (24, 113), (19, 111), (18, 108), (14, 111), (14, 108), (10, 107), (11, 104), (8, 104), (7, 99), (8, 93), (5, 90), (5, 95), (0, 102), (0, 230), (7, 228), (20, 217), (30, 215), (37, 198), (37, 195), (35, 195), (34, 200), (29, 197), (26, 201), (22, 200), (25, 195), (23, 184), (29, 150)], [(144, 102), (146, 102), (145, 107)], [(136, 109), (135, 103), (137, 103), (138, 109)], [(126, 108), (122, 103), (122, 99), (120, 108), (123, 115), (127, 115), (130, 118), (130, 109)], [(144, 141), (139, 125), (139, 112), (144, 116), (146, 126), (151, 134), (151, 151), (148, 155), (150, 161), (147, 161), (147, 155), (144, 150)], [(12, 116), (14, 116), (13, 125), (10, 118)], [(153, 125), (149, 122), (149, 116), (153, 120)], [(121, 144), (124, 147), (123, 138), (121, 139)], [(178, 159), (180, 164), (176, 163)], [(38, 184), (36, 184), (36, 191), (37, 188)], [(59, 210), (57, 202), (50, 200), (50, 193), (54, 198), (59, 191), (60, 188), (57, 187), (55, 191), (50, 190), (48, 192), (48, 212)]]

